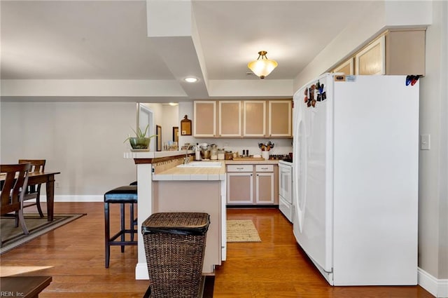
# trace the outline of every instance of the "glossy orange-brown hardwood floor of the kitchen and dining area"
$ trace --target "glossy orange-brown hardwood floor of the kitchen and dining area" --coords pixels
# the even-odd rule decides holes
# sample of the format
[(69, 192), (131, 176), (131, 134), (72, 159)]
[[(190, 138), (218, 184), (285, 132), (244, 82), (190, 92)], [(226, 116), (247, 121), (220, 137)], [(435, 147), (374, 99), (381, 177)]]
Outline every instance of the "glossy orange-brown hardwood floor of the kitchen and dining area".
[[(118, 219), (118, 206), (113, 207), (111, 218)], [(104, 268), (103, 203), (55, 203), (55, 212), (87, 215), (1, 255), (1, 276), (52, 276), (40, 298), (143, 297), (148, 280), (134, 279), (137, 247), (123, 254), (111, 248), (111, 266)], [(227, 261), (216, 268), (214, 298), (433, 297), (419, 286), (330, 287), (278, 210), (229, 209), (228, 219), (252, 219), (262, 242), (228, 243)], [(113, 231), (117, 227), (118, 220)]]

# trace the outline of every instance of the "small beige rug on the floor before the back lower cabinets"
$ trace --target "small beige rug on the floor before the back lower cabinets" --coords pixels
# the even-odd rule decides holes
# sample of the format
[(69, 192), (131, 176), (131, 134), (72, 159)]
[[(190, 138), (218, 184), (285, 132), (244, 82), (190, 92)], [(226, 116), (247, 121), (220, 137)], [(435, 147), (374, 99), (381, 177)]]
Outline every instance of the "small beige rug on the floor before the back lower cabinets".
[(261, 239), (251, 219), (229, 219), (227, 242), (261, 242)]

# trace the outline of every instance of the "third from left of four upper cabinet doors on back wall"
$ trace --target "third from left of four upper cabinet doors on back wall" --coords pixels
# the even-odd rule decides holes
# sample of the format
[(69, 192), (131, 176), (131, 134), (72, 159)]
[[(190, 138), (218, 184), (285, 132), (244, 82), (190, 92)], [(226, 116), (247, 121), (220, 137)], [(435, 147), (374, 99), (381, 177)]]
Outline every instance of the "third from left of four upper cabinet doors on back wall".
[(244, 137), (266, 136), (266, 101), (245, 100), (243, 102), (243, 135)]

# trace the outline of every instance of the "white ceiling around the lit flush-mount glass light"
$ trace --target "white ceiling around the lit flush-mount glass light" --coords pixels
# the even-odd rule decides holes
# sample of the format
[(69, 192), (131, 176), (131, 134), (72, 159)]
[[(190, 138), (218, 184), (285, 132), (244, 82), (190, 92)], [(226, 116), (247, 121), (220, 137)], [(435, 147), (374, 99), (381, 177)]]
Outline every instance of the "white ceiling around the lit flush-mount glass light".
[[(148, 37), (146, 1), (1, 0), (1, 79), (177, 80), (183, 86), (197, 65), (201, 73), (193, 75), (204, 81), (260, 80), (247, 63), (267, 50), (279, 67), (265, 80), (293, 80), (371, 1), (171, 2), (191, 3), (195, 47), (176, 43), (179, 36)], [(173, 18), (158, 26), (171, 26)]]

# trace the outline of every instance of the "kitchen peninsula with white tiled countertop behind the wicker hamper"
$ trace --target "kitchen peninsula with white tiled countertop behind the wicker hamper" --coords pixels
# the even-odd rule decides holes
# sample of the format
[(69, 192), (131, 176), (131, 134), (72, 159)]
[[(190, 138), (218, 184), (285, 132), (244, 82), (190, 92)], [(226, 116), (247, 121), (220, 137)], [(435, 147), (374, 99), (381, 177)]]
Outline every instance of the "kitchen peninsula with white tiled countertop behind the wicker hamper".
[[(193, 154), (194, 151), (188, 151)], [(214, 266), (225, 260), (225, 163), (213, 168), (178, 167), (186, 151), (130, 152), (137, 165), (138, 224), (155, 212), (207, 212), (207, 232), (203, 273), (213, 273)], [(192, 163), (192, 165), (194, 165)], [(148, 279), (143, 236), (138, 235), (136, 279)]]

